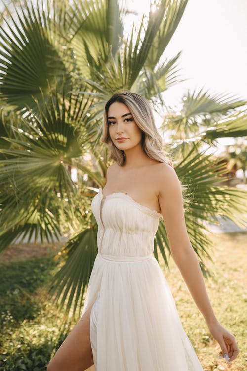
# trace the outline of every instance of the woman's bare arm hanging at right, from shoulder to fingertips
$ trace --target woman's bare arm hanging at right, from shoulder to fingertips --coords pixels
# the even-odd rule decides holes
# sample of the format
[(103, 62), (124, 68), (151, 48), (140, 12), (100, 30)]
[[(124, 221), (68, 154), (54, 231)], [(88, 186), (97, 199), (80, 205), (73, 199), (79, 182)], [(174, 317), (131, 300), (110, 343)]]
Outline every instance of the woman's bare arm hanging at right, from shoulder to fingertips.
[(227, 355), (226, 360), (229, 357), (229, 361), (233, 361), (239, 349), (234, 336), (220, 325), (211, 307), (201, 268), (186, 229), (180, 181), (171, 166), (162, 164), (161, 167), (158, 175), (159, 203), (171, 255), (203, 314), (209, 331), (221, 347), (220, 355)]

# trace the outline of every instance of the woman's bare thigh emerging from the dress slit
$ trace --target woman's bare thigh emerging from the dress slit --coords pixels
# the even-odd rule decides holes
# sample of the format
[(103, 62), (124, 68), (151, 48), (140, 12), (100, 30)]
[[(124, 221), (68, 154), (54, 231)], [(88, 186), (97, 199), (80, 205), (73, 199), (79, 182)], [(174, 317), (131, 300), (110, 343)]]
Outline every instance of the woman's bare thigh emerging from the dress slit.
[(83, 314), (50, 361), (47, 371), (83, 371), (93, 365), (90, 343), (90, 314)]

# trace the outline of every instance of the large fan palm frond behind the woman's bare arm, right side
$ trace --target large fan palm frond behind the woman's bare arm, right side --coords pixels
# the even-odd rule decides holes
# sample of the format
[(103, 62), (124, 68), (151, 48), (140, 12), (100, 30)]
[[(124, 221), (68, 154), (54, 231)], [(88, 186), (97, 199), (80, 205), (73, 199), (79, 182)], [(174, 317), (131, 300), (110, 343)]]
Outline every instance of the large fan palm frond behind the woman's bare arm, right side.
[[(196, 152), (196, 153), (195, 153)], [(179, 161), (175, 171), (182, 184), (186, 184), (185, 192), (185, 222), (191, 244), (199, 257), (201, 268), (205, 275), (204, 259), (211, 259), (209, 251), (212, 243), (208, 237), (209, 230), (205, 222), (219, 224), (217, 217), (229, 218), (240, 227), (247, 225), (247, 206), (243, 199), (247, 192), (235, 188), (215, 185), (226, 179), (226, 169), (211, 155), (199, 153), (194, 147)], [(208, 232), (207, 234), (205, 232)], [(160, 222), (155, 238), (155, 256), (157, 249), (168, 266), (167, 253), (170, 254), (169, 241), (163, 221)]]

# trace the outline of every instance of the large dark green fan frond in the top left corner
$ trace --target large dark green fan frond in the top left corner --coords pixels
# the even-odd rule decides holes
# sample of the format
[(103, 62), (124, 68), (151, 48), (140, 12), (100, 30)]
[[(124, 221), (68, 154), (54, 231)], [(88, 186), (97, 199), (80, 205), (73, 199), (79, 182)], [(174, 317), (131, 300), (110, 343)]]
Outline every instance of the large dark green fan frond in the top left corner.
[(40, 90), (46, 97), (49, 85), (56, 81), (61, 91), (64, 81), (70, 82), (72, 67), (67, 56), (69, 46), (52, 31), (53, 22), (43, 11), (43, 4), (24, 3), (15, 9), (15, 16), (5, 7), (8, 19), (0, 25), (0, 95), (18, 109), (34, 109), (33, 96), (41, 101)]

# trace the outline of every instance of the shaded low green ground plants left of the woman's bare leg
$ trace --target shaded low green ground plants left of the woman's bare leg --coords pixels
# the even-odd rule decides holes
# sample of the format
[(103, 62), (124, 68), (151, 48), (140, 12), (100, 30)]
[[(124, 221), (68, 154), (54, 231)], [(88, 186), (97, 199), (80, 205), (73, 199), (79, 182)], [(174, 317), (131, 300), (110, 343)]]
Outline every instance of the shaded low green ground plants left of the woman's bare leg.
[[(49, 258), (0, 264), (0, 369), (44, 370), (60, 339), (59, 319), (43, 286), (56, 270)], [(61, 324), (60, 324), (61, 325)]]

